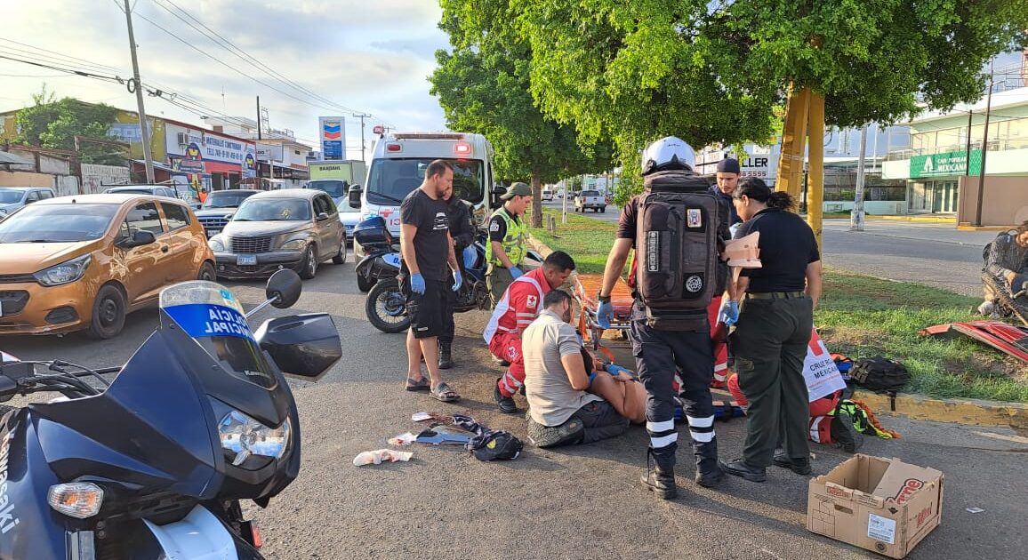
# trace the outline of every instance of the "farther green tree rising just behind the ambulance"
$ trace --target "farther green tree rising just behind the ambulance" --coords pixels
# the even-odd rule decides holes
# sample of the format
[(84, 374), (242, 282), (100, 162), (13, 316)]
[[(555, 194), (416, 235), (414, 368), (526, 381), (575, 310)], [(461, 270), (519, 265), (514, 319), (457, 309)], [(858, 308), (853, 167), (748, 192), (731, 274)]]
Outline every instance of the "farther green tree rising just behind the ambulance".
[(506, 0), (442, 0), (439, 25), (451, 51), (438, 50), (429, 78), (450, 128), (485, 135), (495, 148), (497, 177), (526, 179), (533, 225), (542, 226), (542, 185), (611, 167), (612, 147), (583, 147), (573, 125), (536, 107), (529, 92), (528, 43), (517, 38)]

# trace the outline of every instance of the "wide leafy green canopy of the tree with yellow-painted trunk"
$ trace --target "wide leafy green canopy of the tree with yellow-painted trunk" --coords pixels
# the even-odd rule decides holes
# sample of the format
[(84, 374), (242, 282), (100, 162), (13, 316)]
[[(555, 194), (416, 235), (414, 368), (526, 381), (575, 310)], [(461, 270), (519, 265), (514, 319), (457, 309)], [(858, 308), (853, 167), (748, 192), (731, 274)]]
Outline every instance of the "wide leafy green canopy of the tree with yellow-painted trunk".
[[(1024, 45), (1025, 0), (511, 0), (543, 112), (610, 137), (626, 172), (675, 135), (766, 142), (787, 88), (827, 122), (895, 122), (979, 99), (989, 58)], [(923, 105), (921, 103), (923, 102)], [(636, 174), (626, 173), (625, 177)]]

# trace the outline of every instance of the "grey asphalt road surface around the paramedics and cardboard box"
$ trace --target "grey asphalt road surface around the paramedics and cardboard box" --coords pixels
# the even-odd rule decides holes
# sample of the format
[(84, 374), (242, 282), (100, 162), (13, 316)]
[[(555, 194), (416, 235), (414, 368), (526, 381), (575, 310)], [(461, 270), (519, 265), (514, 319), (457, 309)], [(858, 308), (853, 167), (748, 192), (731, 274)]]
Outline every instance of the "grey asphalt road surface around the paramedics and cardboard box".
[[(229, 285), (245, 304), (260, 301), (262, 283)], [(299, 479), (267, 510), (249, 507), (265, 537), (264, 554), (300, 558), (876, 558), (805, 529), (807, 479), (771, 468), (767, 483), (732, 479), (719, 490), (692, 482), (689, 448), (680, 448), (680, 497), (660, 501), (639, 486), (646, 433), (544, 451), (526, 445), (513, 461), (481, 462), (460, 448), (415, 444), (410, 462), (356, 468), (361, 451), (419, 430), (418, 411), (465, 412), (526, 439), (519, 415), (494, 410), (500, 369), (480, 333), (484, 311), (457, 316), (458, 365), (446, 379), (463, 395), (441, 404), (402, 388), (402, 335), (375, 331), (364, 318), (353, 264), (324, 265), (304, 284), (293, 311), (325, 310), (335, 319), (344, 358), (317, 384), (293, 383), (301, 418)], [(285, 311), (272, 310), (256, 322)], [(151, 332), (156, 313), (136, 313), (120, 337), (95, 342), (64, 338), (0, 338), (24, 359), (65, 359), (107, 366), (123, 363)], [(621, 361), (630, 357), (618, 350)], [(155, 371), (154, 375), (159, 375)], [(518, 398), (524, 406), (522, 398)], [(864, 451), (897, 456), (946, 475), (944, 523), (910, 558), (1018, 558), (1028, 550), (1024, 503), (1028, 438), (882, 417), (900, 431), (894, 441), (868, 441)], [(113, 428), (113, 426), (112, 426)], [(722, 456), (738, 456), (744, 422), (718, 423)], [(688, 432), (684, 432), (688, 434)], [(688, 441), (688, 440), (684, 440)], [(813, 446), (815, 473), (846, 455)], [(965, 508), (983, 513), (970, 514)]]

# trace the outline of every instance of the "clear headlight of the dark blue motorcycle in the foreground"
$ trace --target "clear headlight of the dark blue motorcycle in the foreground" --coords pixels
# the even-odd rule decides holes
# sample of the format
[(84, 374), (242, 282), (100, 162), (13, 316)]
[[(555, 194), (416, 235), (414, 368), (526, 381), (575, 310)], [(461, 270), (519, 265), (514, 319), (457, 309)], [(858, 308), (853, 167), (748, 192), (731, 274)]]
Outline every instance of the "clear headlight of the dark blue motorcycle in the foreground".
[(279, 427), (268, 427), (238, 410), (225, 414), (218, 423), (218, 437), (225, 460), (234, 466), (247, 468), (253, 455), (266, 457), (257, 463), (249, 461), (253, 470), (265, 466), (271, 459), (281, 459), (289, 447), (289, 418)]

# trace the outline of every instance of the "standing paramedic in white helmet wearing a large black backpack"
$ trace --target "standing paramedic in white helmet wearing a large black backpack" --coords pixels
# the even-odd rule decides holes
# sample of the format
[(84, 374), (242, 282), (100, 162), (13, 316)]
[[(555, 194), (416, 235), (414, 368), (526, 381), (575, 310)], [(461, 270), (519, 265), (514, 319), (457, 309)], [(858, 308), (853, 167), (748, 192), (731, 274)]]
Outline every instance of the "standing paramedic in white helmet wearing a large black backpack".
[[(621, 211), (597, 297), (597, 323), (609, 327), (614, 314), (611, 292), (634, 248), (635, 302), (629, 336), (647, 390), (650, 435), (642, 484), (664, 499), (677, 494), (675, 367), (682, 370), (681, 396), (696, 456), (696, 482), (709, 487), (724, 478), (713, 433), (707, 306), (715, 291), (719, 250), (729, 237), (729, 213), (707, 182), (693, 173), (695, 159), (693, 149), (674, 137), (654, 142), (642, 153), (646, 189)], [(734, 320), (733, 308), (737, 306), (726, 302), (725, 319)]]

